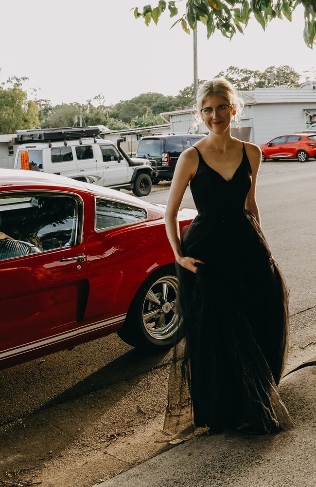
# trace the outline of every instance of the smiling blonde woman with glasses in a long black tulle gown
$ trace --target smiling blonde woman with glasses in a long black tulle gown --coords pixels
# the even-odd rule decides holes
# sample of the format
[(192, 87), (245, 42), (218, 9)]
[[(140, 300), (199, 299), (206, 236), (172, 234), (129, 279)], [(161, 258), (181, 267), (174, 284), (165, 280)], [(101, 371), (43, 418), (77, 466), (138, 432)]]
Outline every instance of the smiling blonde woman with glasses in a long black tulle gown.
[[(288, 292), (260, 227), (261, 150), (231, 136), (243, 101), (225, 79), (205, 82), (195, 109), (209, 133), (180, 155), (166, 209), (184, 339), (174, 349), (164, 430), (188, 420), (212, 432), (286, 430), (292, 423), (277, 386)], [(177, 212), (188, 184), (198, 214), (180, 240)]]

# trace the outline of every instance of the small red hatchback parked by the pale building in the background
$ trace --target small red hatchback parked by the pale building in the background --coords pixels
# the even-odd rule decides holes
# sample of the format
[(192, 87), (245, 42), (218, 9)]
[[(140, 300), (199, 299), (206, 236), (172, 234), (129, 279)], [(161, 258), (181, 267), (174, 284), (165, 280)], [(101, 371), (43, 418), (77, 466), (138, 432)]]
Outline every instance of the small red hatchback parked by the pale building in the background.
[(309, 157), (316, 154), (316, 132), (307, 134), (304, 132), (290, 133), (276, 137), (266, 144), (259, 146), (262, 151), (262, 160), (274, 159), (298, 159), (299, 162), (308, 161)]

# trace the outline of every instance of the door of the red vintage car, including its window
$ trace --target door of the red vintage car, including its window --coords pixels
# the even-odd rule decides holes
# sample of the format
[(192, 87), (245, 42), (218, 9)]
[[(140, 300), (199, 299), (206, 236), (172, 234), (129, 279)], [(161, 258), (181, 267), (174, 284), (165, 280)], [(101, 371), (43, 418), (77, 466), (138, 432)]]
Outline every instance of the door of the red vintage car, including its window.
[(0, 197), (0, 364), (76, 334), (88, 293), (82, 214), (71, 193)]

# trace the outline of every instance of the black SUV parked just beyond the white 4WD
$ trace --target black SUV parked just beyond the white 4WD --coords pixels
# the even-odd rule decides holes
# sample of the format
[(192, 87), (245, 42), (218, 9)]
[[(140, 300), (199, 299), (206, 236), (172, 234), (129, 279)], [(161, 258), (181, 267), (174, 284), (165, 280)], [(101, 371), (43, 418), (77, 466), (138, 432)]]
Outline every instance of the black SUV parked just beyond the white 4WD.
[(153, 179), (154, 184), (162, 180), (171, 181), (181, 152), (203, 137), (203, 133), (146, 135), (140, 138), (136, 157), (157, 162), (158, 172)]

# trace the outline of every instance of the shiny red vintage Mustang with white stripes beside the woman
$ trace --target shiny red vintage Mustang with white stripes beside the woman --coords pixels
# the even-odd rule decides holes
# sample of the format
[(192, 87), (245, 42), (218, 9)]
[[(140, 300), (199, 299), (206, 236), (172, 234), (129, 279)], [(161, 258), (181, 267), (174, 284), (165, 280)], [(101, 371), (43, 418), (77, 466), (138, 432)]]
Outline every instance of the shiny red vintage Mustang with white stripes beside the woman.
[[(179, 225), (196, 212), (179, 210)], [(117, 332), (163, 351), (177, 280), (164, 206), (35, 171), (0, 169), (0, 368)]]

